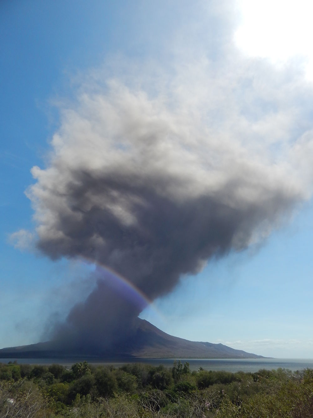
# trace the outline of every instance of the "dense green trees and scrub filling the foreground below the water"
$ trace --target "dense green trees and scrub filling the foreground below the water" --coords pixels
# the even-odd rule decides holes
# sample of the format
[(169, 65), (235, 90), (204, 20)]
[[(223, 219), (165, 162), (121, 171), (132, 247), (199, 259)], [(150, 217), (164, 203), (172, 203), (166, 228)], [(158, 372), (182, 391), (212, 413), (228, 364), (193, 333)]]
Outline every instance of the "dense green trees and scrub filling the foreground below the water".
[(4, 417), (312, 417), (313, 370), (190, 372), (147, 364), (114, 367), (0, 363)]

